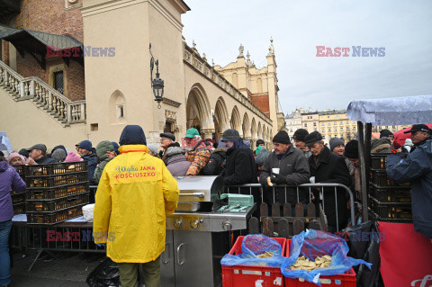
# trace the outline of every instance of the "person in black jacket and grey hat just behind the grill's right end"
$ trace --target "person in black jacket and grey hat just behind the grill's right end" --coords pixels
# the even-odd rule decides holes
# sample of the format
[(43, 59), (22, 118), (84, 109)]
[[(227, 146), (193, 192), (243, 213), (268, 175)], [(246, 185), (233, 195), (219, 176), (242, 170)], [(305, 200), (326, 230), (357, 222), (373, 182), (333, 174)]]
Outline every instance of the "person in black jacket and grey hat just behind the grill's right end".
[[(223, 183), (225, 185), (257, 184), (257, 166), (255, 165), (254, 153), (250, 148), (245, 147), (238, 130), (223, 131), (221, 141), (225, 143), (225, 148), (227, 148), (227, 159), (222, 172)], [(254, 201), (261, 202), (259, 191), (252, 190), (252, 193)]]

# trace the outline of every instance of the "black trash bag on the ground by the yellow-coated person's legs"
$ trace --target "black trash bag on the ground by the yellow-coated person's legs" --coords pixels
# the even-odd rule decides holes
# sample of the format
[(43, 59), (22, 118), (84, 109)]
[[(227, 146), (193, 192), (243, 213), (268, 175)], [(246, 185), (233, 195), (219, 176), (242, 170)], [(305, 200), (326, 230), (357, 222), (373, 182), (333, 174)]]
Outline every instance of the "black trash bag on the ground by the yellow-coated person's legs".
[(85, 283), (90, 287), (119, 287), (120, 272), (117, 264), (109, 257), (106, 257), (103, 262), (97, 265), (94, 270), (88, 274)]

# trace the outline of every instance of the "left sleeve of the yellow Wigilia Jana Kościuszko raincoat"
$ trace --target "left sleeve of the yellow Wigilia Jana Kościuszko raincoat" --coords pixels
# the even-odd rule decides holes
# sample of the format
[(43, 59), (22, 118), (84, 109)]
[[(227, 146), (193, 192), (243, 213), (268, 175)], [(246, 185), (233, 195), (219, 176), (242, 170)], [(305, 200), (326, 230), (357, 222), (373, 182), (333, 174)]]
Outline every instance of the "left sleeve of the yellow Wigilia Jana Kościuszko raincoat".
[(111, 208), (112, 193), (110, 178), (104, 169), (97, 186), (94, 204), (93, 236), (94, 243), (96, 244), (106, 243), (110, 226)]

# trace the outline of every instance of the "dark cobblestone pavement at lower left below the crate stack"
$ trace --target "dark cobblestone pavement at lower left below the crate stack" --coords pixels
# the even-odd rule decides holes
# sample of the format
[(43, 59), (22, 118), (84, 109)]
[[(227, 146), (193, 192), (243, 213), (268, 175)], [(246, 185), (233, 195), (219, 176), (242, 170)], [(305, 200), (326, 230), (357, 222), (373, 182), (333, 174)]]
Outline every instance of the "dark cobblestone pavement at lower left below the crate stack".
[(56, 253), (57, 259), (49, 262), (40, 259), (29, 272), (28, 269), (36, 255), (36, 251), (30, 251), (29, 256), (23, 256), (21, 252), (14, 253), (11, 286), (84, 287), (87, 286), (87, 275), (104, 259), (104, 254)]

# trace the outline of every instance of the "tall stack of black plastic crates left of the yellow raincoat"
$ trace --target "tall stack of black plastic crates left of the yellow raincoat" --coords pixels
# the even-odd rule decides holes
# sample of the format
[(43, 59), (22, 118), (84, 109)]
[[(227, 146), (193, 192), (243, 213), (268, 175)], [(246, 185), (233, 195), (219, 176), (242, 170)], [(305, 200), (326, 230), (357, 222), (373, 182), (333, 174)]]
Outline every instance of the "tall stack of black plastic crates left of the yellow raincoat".
[(26, 166), (28, 224), (56, 224), (83, 215), (89, 202), (88, 163)]

